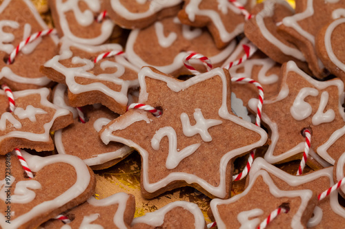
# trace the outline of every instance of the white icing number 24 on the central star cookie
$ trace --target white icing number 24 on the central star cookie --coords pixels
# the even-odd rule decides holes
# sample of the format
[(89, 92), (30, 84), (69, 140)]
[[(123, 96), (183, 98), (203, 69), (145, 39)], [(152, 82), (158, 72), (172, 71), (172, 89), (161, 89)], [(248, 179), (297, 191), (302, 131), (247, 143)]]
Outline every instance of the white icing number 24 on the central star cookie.
[[(204, 142), (210, 142), (212, 137), (210, 133), (208, 133), (208, 129), (221, 124), (222, 121), (213, 119), (206, 120), (202, 115), (201, 109), (195, 109), (193, 115), (196, 124), (191, 126), (188, 115), (186, 113), (181, 113), (181, 123), (184, 135), (187, 137), (192, 137), (199, 133)], [(200, 143), (191, 144), (190, 146), (186, 146), (186, 148), (179, 151), (179, 149), (177, 149), (177, 135), (175, 129), (172, 127), (163, 127), (159, 129), (155, 135), (153, 135), (151, 140), (151, 146), (153, 149), (156, 151), (159, 150), (159, 143), (164, 136), (167, 136), (169, 141), (168, 157), (166, 158), (166, 168), (168, 169), (176, 168), (181, 160), (184, 160), (184, 158), (193, 154), (201, 145)]]

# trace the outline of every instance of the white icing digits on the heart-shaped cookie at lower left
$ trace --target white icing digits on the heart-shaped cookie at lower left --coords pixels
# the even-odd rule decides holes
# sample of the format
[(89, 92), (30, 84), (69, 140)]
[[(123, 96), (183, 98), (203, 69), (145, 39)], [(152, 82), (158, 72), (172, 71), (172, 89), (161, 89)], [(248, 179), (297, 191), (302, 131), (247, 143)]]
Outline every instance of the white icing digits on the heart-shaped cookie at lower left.
[[(10, 175), (10, 184), (7, 184), (6, 179), (0, 181), (0, 199), (4, 202), (7, 198), (7, 193), (5, 192), (8, 188), (6, 186), (12, 186), (14, 183), (15, 177)], [(14, 191), (11, 190), (10, 201), (13, 204), (28, 204), (36, 197), (36, 193), (30, 189), (39, 189), (42, 188), (41, 184), (36, 180), (23, 180), (17, 182)], [(12, 193), (13, 192), (13, 193)]]

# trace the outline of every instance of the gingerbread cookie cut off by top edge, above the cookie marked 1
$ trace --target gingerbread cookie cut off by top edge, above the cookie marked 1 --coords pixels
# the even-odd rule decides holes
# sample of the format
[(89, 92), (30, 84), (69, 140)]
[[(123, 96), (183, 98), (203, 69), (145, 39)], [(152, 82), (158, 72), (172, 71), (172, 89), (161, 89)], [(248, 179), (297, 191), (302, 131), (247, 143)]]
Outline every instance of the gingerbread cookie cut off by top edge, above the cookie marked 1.
[(109, 17), (122, 28), (146, 28), (155, 21), (175, 16), (182, 0), (106, 0)]

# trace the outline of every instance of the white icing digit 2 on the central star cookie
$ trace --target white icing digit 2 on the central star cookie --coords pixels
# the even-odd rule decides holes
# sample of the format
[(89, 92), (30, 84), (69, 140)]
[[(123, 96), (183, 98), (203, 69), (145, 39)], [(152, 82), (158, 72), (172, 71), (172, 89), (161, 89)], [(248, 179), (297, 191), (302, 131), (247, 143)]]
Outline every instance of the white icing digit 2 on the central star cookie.
[(159, 150), (159, 143), (164, 136), (167, 136), (169, 140), (169, 151), (168, 157), (166, 158), (166, 168), (168, 169), (176, 168), (181, 160), (184, 160), (184, 158), (188, 157), (192, 153), (195, 153), (200, 146), (200, 143), (191, 144), (190, 146), (186, 146), (186, 148), (179, 151), (177, 149), (177, 135), (175, 129), (172, 127), (163, 127), (156, 131), (151, 140), (151, 146), (153, 149), (155, 149), (155, 151)]

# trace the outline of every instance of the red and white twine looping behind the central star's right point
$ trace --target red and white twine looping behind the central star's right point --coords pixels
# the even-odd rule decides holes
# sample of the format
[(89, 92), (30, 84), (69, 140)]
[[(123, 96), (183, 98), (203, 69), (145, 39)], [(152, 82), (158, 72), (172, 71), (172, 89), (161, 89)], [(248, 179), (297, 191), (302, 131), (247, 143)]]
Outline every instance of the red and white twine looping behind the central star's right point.
[[(251, 78), (231, 78), (231, 81), (251, 83), (255, 85), (257, 89), (259, 90), (259, 101), (257, 102), (257, 116), (256, 116), (255, 124), (257, 125), (257, 127), (260, 127), (261, 117), (262, 117), (262, 105), (264, 103), (264, 89), (262, 88), (262, 85), (260, 85), (257, 81)], [(246, 177), (246, 175), (248, 175), (250, 171), (250, 167), (252, 166), (253, 161), (254, 161), (255, 151), (256, 150), (250, 151), (250, 155), (248, 157), (248, 162), (246, 164), (246, 167), (241, 173), (237, 175), (233, 175), (233, 181), (238, 181)]]

